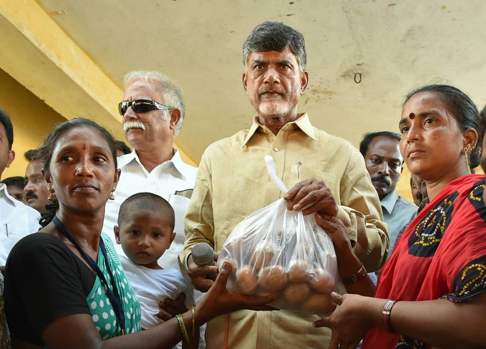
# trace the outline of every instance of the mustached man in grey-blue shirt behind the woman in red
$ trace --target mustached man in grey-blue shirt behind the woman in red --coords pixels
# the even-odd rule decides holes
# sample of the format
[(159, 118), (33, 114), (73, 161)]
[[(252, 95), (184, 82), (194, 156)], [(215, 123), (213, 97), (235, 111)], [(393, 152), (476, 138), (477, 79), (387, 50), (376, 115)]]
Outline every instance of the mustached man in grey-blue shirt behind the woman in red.
[(391, 256), (401, 228), (417, 215), (417, 206), (396, 192), (396, 184), (403, 170), (399, 142), (400, 135), (380, 131), (365, 134), (359, 144), (359, 151), (365, 158), (366, 169), (380, 198), (383, 218), (388, 224), (388, 257)]

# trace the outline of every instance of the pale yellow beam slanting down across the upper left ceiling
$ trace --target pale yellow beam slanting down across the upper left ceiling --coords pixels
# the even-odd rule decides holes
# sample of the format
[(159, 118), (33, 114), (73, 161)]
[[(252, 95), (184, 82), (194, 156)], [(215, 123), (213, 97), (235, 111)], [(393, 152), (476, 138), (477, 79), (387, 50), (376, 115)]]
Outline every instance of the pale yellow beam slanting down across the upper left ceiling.
[[(45, 100), (59, 118), (89, 118), (123, 140), (117, 110), (123, 89), (35, 0), (0, 0), (0, 3), (0, 46), (9, 48), (0, 50), (0, 67), (33, 95)], [(36, 120), (32, 127), (45, 121), (37, 122), (39, 117), (35, 114), (31, 118)], [(49, 125), (39, 126), (38, 130), (48, 131)], [(174, 146), (185, 162), (195, 165), (177, 141)], [(21, 163), (18, 165), (22, 167)]]

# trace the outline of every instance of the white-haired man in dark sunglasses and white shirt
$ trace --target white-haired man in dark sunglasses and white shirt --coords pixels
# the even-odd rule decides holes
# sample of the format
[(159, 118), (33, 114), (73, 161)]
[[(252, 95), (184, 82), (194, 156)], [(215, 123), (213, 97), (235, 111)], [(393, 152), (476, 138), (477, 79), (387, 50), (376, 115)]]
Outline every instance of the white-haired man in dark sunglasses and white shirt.
[[(197, 168), (184, 163), (173, 147), (173, 139), (184, 120), (182, 93), (157, 71), (131, 71), (125, 75), (124, 82), (125, 96), (118, 104), (118, 111), (123, 118), (125, 138), (133, 151), (117, 159), (120, 180), (113, 191), (114, 199), (106, 204), (103, 232), (115, 240), (113, 226), (117, 224), (120, 205), (131, 195), (151, 192), (161, 196), (174, 208), (176, 238), (158, 264), (164, 269), (179, 269), (177, 256), (184, 244), (184, 215), (197, 173)], [(114, 246), (118, 254), (124, 255), (120, 245)], [(183, 297), (181, 294), (175, 304), (183, 304)], [(171, 318), (164, 312), (158, 316), (164, 321)], [(200, 348), (204, 347), (203, 338)]]

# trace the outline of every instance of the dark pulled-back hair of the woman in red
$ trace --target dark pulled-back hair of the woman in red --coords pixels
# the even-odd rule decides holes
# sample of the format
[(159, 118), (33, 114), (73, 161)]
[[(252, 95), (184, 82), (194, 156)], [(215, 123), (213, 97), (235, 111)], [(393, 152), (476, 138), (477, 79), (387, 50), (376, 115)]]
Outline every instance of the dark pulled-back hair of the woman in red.
[[(403, 104), (407, 103), (412, 96), (422, 92), (430, 92), (437, 95), (449, 110), (453, 112), (463, 130), (473, 128), (479, 135), (479, 111), (477, 110), (476, 104), (474, 104), (468, 95), (450, 85), (426, 85), (410, 92)], [(478, 138), (476, 146), (469, 156), (469, 167), (472, 173), (479, 166), (480, 160), (481, 142), (479, 142)]]

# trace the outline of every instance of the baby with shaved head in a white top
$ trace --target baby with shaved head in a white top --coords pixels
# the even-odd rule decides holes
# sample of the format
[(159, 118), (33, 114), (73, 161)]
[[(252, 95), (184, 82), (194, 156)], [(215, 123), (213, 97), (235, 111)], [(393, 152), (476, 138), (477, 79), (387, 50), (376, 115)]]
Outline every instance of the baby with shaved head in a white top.
[(158, 303), (166, 298), (175, 299), (184, 292), (187, 308), (194, 306), (181, 272), (157, 263), (176, 236), (174, 210), (166, 200), (148, 192), (132, 195), (120, 206), (114, 232), (116, 243), (128, 257), (119, 256), (141, 304), (143, 329), (163, 322), (156, 315)]

